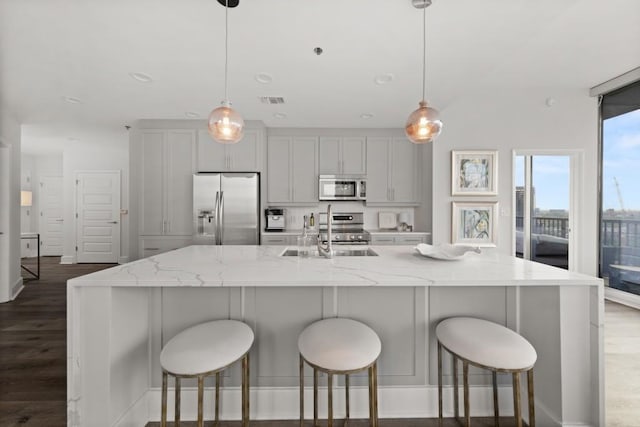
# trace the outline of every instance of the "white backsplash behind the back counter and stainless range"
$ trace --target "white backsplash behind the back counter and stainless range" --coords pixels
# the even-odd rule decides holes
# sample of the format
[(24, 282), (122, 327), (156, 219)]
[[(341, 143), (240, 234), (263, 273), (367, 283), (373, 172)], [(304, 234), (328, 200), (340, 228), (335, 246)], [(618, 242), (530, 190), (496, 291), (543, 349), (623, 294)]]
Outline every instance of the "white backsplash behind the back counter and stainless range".
[[(327, 211), (327, 203), (320, 202), (317, 206), (308, 207), (288, 207), (288, 206), (269, 206), (269, 207), (282, 207), (286, 209), (286, 226), (287, 230), (299, 230), (302, 229), (304, 215), (310, 216), (313, 212), (313, 216), (316, 218), (316, 227), (318, 226), (318, 214), (320, 212)], [(333, 212), (363, 212), (364, 213), (364, 228), (366, 230), (378, 230), (378, 213), (380, 212), (393, 212), (396, 215), (401, 212), (406, 212), (409, 215), (409, 225), (414, 224), (414, 209), (408, 207), (368, 207), (364, 206), (362, 202), (332, 202), (331, 208)]]

